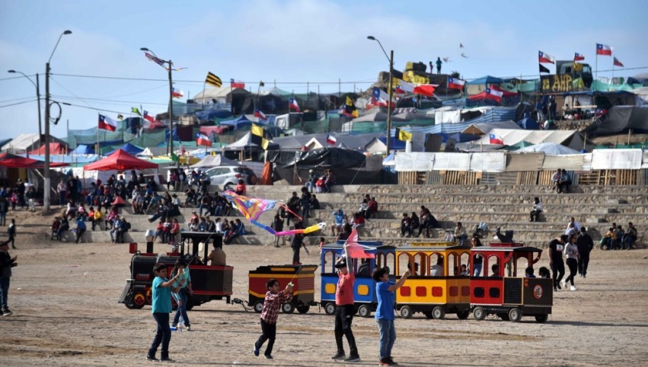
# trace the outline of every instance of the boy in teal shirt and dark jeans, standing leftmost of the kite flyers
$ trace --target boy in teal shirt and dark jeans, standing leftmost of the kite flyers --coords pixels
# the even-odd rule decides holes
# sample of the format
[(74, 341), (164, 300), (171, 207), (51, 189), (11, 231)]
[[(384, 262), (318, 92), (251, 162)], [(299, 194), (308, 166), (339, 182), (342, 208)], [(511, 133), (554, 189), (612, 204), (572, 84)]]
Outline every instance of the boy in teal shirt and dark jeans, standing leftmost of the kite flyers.
[(179, 285), (181, 286), (185, 282), (184, 279), (179, 279), (183, 272), (178, 271), (178, 274), (169, 280), (167, 279), (166, 264), (156, 263), (153, 267), (153, 273), (156, 274), (156, 278), (153, 280), (152, 285), (151, 312), (157, 322), (157, 333), (146, 355), (146, 359), (149, 361), (157, 361), (157, 347), (162, 344), (162, 357), (159, 360), (173, 362), (168, 357), (168, 343), (171, 341), (171, 328), (168, 325), (168, 314), (171, 313), (171, 291), (174, 293), (179, 291), (179, 287), (173, 287), (174, 283), (179, 281)]

